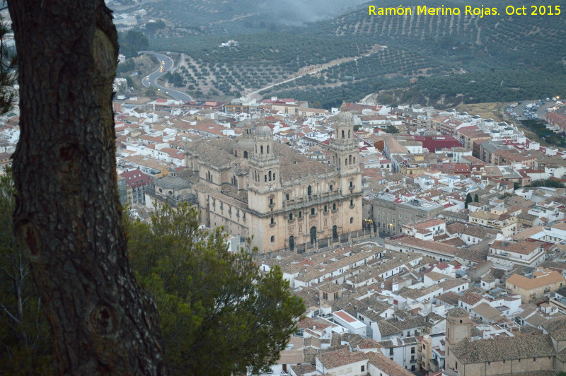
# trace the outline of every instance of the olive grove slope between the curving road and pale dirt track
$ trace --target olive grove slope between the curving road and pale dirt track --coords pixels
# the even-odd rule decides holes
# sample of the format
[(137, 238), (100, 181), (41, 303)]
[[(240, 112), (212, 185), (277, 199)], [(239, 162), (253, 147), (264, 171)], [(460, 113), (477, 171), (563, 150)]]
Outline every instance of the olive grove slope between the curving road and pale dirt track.
[[(151, 48), (187, 54), (178, 72), (188, 85), (238, 95), (283, 81), (304, 66), (369, 52), (369, 42), (328, 40), (292, 34), (236, 35), (237, 46), (219, 47), (226, 37), (195, 36), (151, 40)], [(330, 78), (332, 80), (332, 78)], [(294, 88), (293, 84), (284, 88)], [(190, 88), (189, 88), (190, 90)]]

